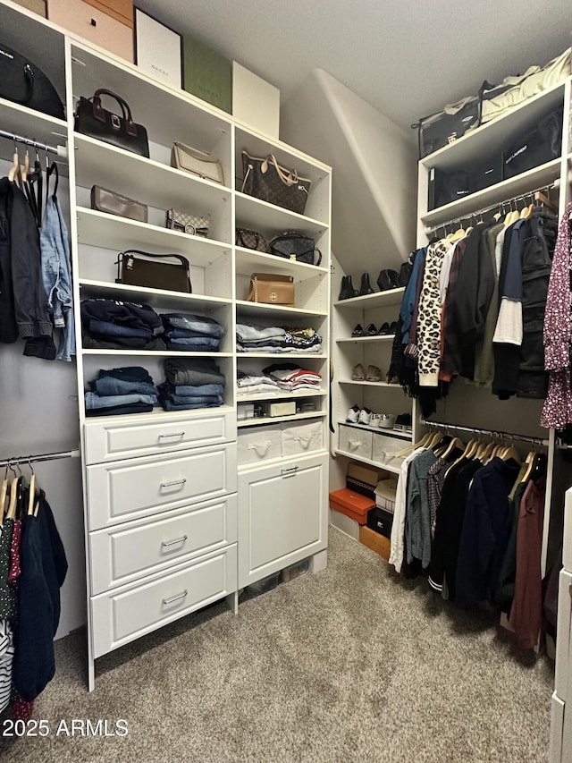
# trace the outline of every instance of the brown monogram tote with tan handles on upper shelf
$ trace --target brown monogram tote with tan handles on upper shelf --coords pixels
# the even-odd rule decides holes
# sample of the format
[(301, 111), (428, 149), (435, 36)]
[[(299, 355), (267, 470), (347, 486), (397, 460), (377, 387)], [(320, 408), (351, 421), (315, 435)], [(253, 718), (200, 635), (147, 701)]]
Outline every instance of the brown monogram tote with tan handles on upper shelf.
[(304, 214), (311, 181), (300, 177), (295, 169), (282, 167), (272, 154), (258, 159), (242, 151), (242, 172), (242, 193)]

